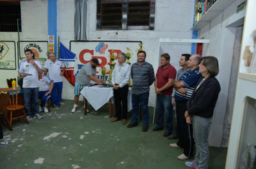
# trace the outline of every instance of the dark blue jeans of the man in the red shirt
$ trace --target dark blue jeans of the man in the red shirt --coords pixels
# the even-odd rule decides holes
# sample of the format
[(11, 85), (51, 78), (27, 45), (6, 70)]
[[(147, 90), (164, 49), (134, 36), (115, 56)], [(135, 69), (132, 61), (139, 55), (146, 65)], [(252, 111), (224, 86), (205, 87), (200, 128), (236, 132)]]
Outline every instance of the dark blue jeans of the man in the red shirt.
[(166, 132), (173, 132), (173, 105), (171, 95), (157, 95), (157, 128), (163, 128), (163, 112), (166, 115)]

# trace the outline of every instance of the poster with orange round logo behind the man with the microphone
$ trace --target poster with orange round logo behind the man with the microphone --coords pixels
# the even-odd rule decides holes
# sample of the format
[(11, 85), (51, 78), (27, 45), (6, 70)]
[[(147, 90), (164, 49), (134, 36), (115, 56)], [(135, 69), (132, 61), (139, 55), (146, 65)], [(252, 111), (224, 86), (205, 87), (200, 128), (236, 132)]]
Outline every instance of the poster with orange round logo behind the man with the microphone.
[(31, 49), (35, 55), (35, 59), (37, 59), (41, 66), (45, 66), (45, 61), (48, 59), (48, 42), (47, 41), (19, 41), (19, 63), (22, 62), (23, 59), (26, 59), (24, 50)]

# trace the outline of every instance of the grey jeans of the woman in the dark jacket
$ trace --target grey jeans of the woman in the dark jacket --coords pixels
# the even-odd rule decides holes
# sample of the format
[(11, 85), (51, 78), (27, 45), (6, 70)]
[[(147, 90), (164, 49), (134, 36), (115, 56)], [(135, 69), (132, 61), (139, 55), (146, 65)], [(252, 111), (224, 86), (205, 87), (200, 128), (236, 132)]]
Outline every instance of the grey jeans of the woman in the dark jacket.
[(212, 117), (204, 118), (193, 115), (193, 138), (196, 142), (196, 156), (193, 163), (202, 169), (207, 169), (209, 165), (208, 134), (211, 122)]

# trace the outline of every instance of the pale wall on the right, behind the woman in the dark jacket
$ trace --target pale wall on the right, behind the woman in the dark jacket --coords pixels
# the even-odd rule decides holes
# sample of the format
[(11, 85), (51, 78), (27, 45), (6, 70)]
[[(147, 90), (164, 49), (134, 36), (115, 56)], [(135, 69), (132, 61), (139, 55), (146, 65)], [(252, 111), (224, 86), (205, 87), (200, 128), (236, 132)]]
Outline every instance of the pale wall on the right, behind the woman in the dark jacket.
[[(234, 93), (235, 87), (229, 89), (230, 77), (232, 72), (232, 58), (234, 52), (234, 41), (237, 26), (243, 24), (242, 18), (244, 17), (244, 11), (240, 11), (237, 14), (237, 6), (244, 0), (237, 0), (221, 14), (216, 16), (209, 24), (206, 24), (200, 31), (200, 38), (210, 39), (210, 43), (204, 45), (203, 56), (214, 56), (219, 59), (219, 83), (221, 84), (221, 92), (219, 94), (219, 100), (216, 104), (216, 110), (213, 120), (213, 127), (211, 129), (210, 145), (221, 147), (227, 146), (228, 139), (223, 140), (222, 135), (228, 135), (229, 129), (227, 124), (231, 123), (231, 120), (224, 122), (224, 116), (226, 113), (232, 114), (232, 109), (227, 109), (227, 100), (232, 95), (229, 92)], [(237, 65), (238, 67), (238, 65)], [(228, 105), (229, 106), (229, 105)], [(227, 111), (226, 111), (227, 109)], [(221, 125), (221, 124), (224, 124)], [(225, 133), (223, 133), (223, 131)]]

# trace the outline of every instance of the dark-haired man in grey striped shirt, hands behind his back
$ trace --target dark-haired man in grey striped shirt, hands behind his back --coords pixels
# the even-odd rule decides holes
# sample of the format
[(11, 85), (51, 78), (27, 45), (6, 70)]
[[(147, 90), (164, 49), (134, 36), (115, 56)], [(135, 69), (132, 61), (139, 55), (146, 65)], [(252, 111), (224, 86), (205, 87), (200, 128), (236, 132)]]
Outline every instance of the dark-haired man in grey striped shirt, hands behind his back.
[(150, 85), (155, 81), (155, 73), (152, 64), (145, 61), (146, 52), (137, 53), (137, 63), (132, 64), (132, 122), (127, 127), (138, 125), (139, 105), (142, 106), (143, 126), (142, 132), (147, 132), (150, 114), (148, 112), (148, 98)]

